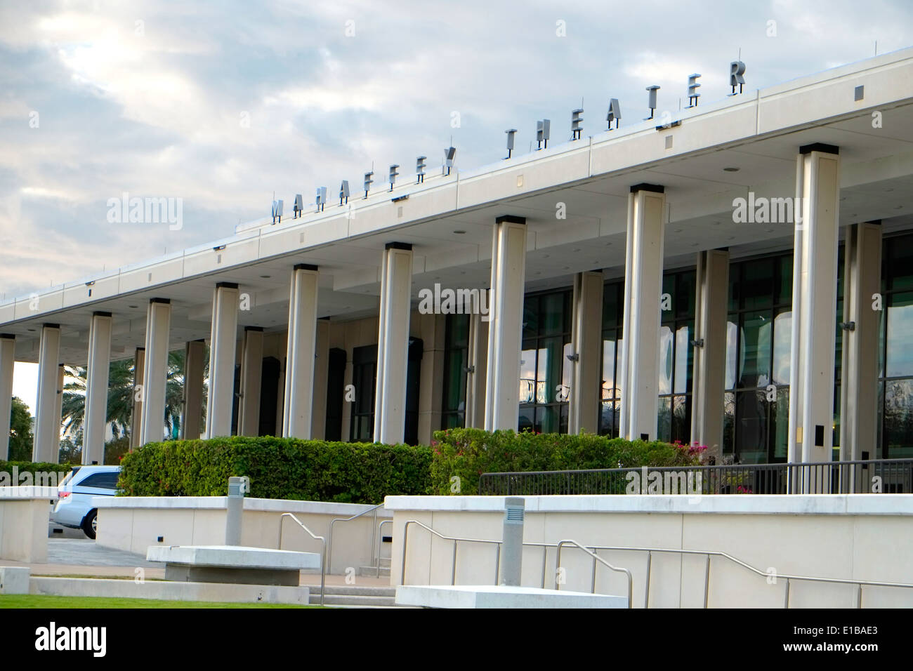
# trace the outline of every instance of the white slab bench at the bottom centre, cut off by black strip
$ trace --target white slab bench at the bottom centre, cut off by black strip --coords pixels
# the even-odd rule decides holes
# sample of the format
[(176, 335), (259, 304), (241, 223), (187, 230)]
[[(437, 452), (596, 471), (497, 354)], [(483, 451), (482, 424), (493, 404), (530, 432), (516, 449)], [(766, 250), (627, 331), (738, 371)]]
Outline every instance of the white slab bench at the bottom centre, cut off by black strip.
[(627, 608), (626, 596), (509, 585), (399, 585), (396, 605), (425, 608)]

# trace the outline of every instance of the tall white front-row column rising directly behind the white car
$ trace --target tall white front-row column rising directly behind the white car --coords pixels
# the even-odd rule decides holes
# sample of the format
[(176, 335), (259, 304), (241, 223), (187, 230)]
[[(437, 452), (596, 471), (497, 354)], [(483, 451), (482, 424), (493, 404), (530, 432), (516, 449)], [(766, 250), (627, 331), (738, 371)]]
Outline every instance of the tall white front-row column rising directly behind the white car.
[(89, 363), (86, 365), (86, 416), (82, 431), (82, 463), (105, 462), (108, 425), (108, 373), (111, 352), (111, 313), (93, 312), (89, 321)]

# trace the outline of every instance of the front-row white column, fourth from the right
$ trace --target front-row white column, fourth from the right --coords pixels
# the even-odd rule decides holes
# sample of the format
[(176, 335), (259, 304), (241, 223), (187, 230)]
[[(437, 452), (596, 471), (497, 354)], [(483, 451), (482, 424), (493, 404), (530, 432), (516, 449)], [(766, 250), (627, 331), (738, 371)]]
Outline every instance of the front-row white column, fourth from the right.
[(374, 442), (402, 443), (412, 303), (412, 245), (387, 243), (381, 264)]

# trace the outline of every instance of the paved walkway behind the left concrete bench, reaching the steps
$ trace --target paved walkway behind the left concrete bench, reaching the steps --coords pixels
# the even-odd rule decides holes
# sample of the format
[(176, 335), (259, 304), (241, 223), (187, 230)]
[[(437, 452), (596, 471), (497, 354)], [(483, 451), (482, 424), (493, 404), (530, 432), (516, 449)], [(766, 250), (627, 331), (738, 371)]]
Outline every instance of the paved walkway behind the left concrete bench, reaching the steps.
[[(32, 575), (86, 575), (95, 577), (129, 577), (136, 576), (136, 569), (142, 568), (146, 578), (164, 578), (162, 564), (146, 561), (141, 554), (124, 550), (111, 550), (95, 544), (94, 540), (83, 539), (48, 539), (47, 563), (29, 564), (22, 561), (0, 560), (2, 566), (28, 566)], [(381, 576), (357, 575), (355, 585), (364, 587), (389, 587), (390, 578)], [(302, 585), (319, 585), (320, 573), (301, 572)], [(345, 585), (344, 575), (328, 575), (328, 585)]]

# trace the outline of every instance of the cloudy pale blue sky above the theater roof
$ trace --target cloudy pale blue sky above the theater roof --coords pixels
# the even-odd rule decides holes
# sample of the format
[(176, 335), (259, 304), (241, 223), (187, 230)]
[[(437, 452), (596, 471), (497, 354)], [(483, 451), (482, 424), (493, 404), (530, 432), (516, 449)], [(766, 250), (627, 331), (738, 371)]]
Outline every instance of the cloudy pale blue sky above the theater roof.
[[(230, 236), (274, 192), (439, 164), (451, 136), (475, 168), (508, 128), (561, 140), (581, 100), (584, 136), (652, 84), (676, 110), (693, 72), (718, 100), (740, 49), (753, 90), (876, 41), (913, 45), (913, 4), (0, 0), (0, 300)], [(110, 223), (124, 193), (181, 198), (183, 227)]]

